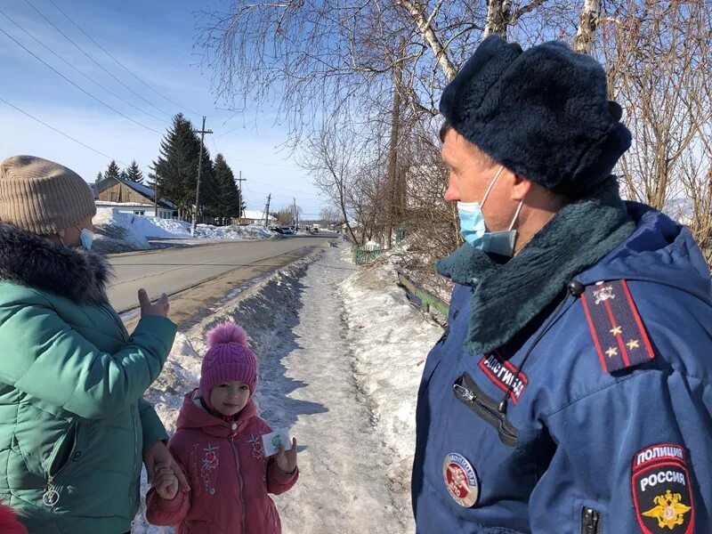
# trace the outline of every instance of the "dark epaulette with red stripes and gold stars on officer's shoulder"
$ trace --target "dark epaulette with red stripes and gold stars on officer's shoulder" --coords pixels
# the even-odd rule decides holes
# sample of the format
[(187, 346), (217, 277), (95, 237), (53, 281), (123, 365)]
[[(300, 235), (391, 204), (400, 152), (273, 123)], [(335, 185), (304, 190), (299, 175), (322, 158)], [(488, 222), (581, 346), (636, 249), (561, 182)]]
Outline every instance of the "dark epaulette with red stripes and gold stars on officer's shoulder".
[(633, 367), (655, 358), (626, 280), (587, 286), (581, 302), (605, 372)]

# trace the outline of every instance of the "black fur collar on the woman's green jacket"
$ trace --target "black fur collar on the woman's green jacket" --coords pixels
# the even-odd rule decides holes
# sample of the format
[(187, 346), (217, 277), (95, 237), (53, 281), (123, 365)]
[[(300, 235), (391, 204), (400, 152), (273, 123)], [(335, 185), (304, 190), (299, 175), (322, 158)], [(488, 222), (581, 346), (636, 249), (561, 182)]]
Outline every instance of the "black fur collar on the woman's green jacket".
[(106, 258), (81, 248), (54, 245), (48, 239), (0, 223), (0, 281), (34, 287), (77, 304), (108, 302), (113, 271)]

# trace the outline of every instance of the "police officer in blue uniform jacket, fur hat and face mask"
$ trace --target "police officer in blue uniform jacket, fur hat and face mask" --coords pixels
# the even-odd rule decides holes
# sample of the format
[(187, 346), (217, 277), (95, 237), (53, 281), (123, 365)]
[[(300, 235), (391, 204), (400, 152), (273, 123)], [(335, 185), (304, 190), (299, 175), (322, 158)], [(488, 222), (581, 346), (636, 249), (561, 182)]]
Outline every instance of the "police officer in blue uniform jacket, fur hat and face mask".
[(594, 59), (490, 36), (441, 97), (465, 244), (417, 403), (421, 533), (712, 532), (712, 290), (690, 231), (624, 202)]

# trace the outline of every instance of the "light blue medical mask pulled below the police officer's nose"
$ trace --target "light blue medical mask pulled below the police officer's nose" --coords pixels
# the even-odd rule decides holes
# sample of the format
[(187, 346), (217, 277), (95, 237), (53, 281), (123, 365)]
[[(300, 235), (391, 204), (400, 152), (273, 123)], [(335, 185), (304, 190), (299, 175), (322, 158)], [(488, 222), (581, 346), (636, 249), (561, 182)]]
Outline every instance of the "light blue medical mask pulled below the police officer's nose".
[(517, 236), (517, 231), (513, 230), (514, 223), (516, 223), (519, 212), (522, 209), (522, 204), (524, 203), (523, 198), (517, 207), (516, 214), (514, 214), (512, 224), (509, 225), (509, 230), (487, 231), (487, 226), (484, 223), (484, 215), (482, 214), (482, 206), (484, 206), (487, 197), (490, 196), (492, 187), (494, 187), (494, 184), (504, 169), (504, 166), (499, 167), (497, 174), (492, 182), (490, 182), (487, 191), (485, 191), (481, 203), (457, 202), (457, 214), (460, 218), (460, 233), (471, 247), (478, 248), (483, 252), (511, 257), (514, 255), (514, 241)]

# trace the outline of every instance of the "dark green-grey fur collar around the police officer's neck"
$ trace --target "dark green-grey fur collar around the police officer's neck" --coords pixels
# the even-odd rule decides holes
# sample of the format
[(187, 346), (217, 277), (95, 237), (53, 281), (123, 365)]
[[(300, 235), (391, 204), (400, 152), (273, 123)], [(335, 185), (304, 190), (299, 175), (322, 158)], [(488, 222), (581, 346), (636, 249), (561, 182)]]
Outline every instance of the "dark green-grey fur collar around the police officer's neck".
[(443, 276), (476, 288), (465, 348), (482, 354), (511, 341), (574, 276), (598, 263), (634, 230), (618, 184), (611, 179), (564, 206), (508, 261), (465, 243), (436, 265)]

